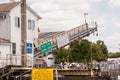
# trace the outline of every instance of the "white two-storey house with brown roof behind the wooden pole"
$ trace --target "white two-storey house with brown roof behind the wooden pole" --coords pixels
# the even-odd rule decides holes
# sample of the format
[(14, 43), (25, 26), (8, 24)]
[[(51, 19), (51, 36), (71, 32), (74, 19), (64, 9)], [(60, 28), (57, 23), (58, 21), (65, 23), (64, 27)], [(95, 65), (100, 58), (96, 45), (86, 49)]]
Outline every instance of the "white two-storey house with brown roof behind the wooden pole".
[[(33, 41), (38, 37), (38, 20), (41, 17), (28, 5), (26, 14), (22, 14), (21, 4), (22, 1), (0, 3), (0, 67), (22, 64), (23, 45), (26, 45), (27, 64), (32, 65)], [(26, 15), (26, 44), (21, 42), (21, 15)]]

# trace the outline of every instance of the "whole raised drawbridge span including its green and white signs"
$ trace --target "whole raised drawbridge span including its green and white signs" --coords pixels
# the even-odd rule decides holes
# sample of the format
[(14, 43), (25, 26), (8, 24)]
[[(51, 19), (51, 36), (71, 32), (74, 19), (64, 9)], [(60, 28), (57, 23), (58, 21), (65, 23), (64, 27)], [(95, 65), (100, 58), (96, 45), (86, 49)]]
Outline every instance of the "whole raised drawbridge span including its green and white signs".
[[(97, 31), (97, 23), (83, 24), (68, 31), (41, 33), (38, 39), (35, 39), (34, 58), (43, 57), (52, 50), (64, 47), (71, 42), (89, 36)], [(47, 46), (48, 45), (48, 46)], [(49, 46), (50, 45), (50, 46)]]

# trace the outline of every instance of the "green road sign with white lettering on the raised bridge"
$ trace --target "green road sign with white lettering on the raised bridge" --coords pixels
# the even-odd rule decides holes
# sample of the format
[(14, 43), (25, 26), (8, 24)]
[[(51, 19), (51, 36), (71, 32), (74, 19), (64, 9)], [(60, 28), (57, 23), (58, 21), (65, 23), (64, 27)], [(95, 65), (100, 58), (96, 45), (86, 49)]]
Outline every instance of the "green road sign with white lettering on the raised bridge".
[(52, 43), (51, 43), (51, 41), (48, 41), (46, 43), (41, 44), (40, 45), (40, 50), (41, 50), (42, 54), (52, 50)]

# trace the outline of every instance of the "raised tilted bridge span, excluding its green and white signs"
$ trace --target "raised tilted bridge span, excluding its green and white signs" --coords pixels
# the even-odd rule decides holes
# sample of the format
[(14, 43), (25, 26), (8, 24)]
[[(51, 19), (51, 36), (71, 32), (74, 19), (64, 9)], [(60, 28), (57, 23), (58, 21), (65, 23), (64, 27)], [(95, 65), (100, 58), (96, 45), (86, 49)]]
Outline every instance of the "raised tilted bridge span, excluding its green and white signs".
[[(47, 41), (51, 41), (52, 50), (56, 50), (60, 47), (64, 47), (68, 45), (69, 43), (75, 40), (82, 39), (83, 37), (89, 36), (91, 33), (94, 33), (95, 31), (97, 31), (97, 23), (93, 22), (91, 24), (86, 23), (86, 24), (80, 25), (68, 31), (41, 33), (38, 39), (34, 41), (34, 44), (36, 47), (34, 58), (37, 59), (39, 57), (44, 56), (44, 54), (42, 54), (41, 52), (40, 45)], [(63, 36), (67, 36), (68, 42), (59, 46), (58, 38)], [(45, 54), (47, 55), (47, 53)]]

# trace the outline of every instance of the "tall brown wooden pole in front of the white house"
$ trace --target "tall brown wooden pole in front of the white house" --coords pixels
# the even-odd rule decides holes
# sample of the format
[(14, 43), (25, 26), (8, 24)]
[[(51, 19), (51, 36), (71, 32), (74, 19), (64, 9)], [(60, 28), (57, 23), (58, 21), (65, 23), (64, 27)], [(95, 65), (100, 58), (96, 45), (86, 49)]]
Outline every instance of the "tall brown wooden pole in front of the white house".
[(26, 66), (26, 42), (27, 42), (27, 27), (26, 27), (26, 0), (21, 0), (21, 43), (22, 45), (22, 53), (21, 64)]

